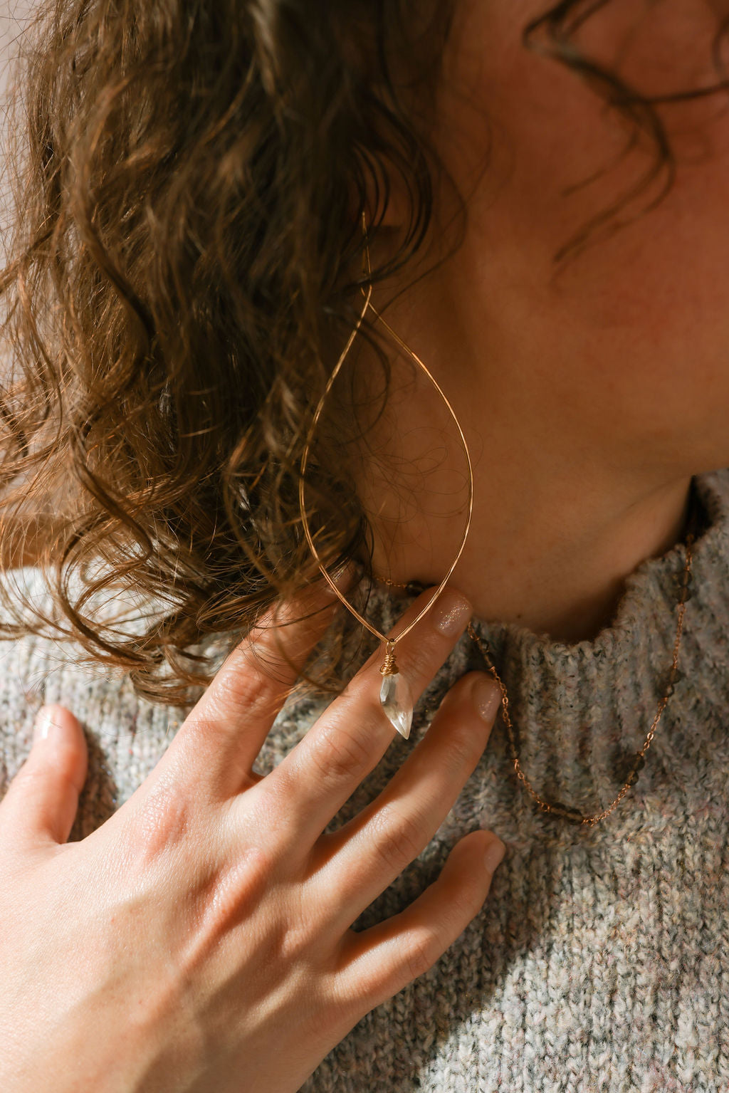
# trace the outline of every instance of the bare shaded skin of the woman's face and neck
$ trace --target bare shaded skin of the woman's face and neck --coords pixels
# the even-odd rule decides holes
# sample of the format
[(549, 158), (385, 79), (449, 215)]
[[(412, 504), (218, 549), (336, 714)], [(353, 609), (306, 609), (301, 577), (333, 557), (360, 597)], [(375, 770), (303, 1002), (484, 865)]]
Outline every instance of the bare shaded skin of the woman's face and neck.
[[(644, 139), (563, 195), (616, 161), (630, 130), (576, 74), (522, 48), (544, 8), (458, 3), (432, 131), (468, 202), (465, 238), (416, 283), (404, 270), (378, 284), (373, 302), (434, 373), (471, 448), (473, 525), (454, 583), (480, 618), (577, 642), (610, 623), (625, 577), (682, 537), (691, 477), (729, 465), (729, 108), (726, 92), (659, 107), (673, 189), (555, 275), (560, 247), (654, 151)], [(639, 92), (709, 86), (716, 9), (613, 0), (577, 42)], [(423, 270), (450, 242), (448, 193)], [(396, 193), (383, 254), (404, 209)], [(378, 572), (437, 583), (463, 526), (465, 461), (440, 400), (392, 360), (390, 412), (358, 487)]]

